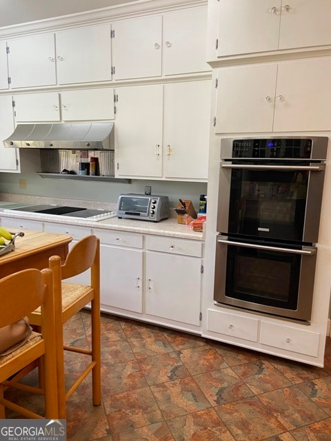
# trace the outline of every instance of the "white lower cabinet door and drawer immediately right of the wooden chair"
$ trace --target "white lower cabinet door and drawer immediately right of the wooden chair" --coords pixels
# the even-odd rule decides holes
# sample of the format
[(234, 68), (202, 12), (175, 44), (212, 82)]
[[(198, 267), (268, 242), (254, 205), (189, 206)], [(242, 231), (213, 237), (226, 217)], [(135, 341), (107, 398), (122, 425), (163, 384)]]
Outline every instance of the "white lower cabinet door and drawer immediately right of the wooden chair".
[(143, 236), (93, 229), (100, 238), (101, 308), (143, 311)]

